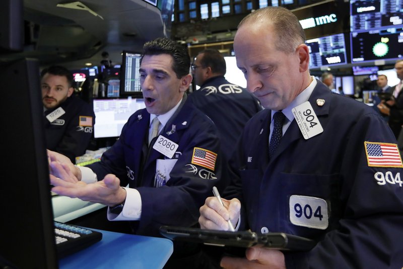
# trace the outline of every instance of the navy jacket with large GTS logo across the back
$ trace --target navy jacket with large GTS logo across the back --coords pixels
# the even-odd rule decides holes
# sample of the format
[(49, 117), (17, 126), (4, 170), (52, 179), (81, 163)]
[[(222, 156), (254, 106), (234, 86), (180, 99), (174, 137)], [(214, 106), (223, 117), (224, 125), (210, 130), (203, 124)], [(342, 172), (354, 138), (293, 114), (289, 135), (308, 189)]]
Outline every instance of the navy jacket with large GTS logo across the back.
[(227, 158), (231, 157), (246, 122), (262, 110), (257, 98), (224, 76), (206, 80), (200, 89), (189, 94), (189, 99), (217, 126)]

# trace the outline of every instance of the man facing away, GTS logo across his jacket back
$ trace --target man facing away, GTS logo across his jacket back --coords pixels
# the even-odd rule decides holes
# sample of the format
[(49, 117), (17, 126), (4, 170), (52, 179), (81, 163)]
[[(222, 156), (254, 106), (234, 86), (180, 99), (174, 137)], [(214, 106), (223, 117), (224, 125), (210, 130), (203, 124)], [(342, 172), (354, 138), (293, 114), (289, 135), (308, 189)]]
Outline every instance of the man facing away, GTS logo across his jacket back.
[(215, 123), (224, 153), (229, 158), (246, 122), (262, 107), (252, 94), (224, 78), (227, 67), (220, 51), (201, 51), (191, 69), (200, 88), (191, 93), (189, 99)]

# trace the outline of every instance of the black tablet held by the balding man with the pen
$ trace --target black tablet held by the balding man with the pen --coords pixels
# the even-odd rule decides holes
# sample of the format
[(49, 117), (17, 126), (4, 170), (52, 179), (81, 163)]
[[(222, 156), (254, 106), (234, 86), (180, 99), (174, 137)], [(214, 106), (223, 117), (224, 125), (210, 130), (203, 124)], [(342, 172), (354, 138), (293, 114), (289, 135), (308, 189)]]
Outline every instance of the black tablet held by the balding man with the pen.
[(160, 233), (171, 240), (232, 247), (262, 246), (279, 250), (308, 251), (316, 245), (311, 239), (286, 233), (258, 234), (248, 231), (231, 232), (176, 226), (161, 226)]

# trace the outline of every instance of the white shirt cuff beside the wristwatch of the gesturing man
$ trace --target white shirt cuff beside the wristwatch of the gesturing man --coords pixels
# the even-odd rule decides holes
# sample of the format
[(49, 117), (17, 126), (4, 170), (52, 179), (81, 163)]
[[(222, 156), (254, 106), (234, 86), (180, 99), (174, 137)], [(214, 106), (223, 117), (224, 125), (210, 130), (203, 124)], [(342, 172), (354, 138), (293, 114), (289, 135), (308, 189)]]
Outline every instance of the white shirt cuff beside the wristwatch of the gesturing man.
[(120, 214), (114, 214), (109, 211), (107, 217), (109, 221), (139, 221), (142, 217), (142, 197), (136, 189), (125, 188), (126, 200), (124, 201), (123, 210)]

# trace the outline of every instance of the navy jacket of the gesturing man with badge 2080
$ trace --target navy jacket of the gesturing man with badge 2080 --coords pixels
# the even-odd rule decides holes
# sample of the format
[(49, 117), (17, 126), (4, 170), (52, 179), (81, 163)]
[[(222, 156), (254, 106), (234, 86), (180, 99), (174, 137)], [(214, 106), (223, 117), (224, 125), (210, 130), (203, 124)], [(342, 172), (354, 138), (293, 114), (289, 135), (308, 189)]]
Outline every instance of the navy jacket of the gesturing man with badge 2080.
[[(130, 116), (120, 138), (102, 155), (101, 161), (88, 166), (99, 180), (111, 173), (120, 179), (121, 186), (128, 183), (130, 188), (140, 192), (142, 214), (141, 220), (133, 223), (138, 227), (136, 234), (161, 236), (159, 227), (162, 225), (197, 224), (199, 207), (212, 195), (213, 186), (219, 184), (223, 162), (216, 127), (188, 100), (178, 110), (161, 132), (162, 136), (179, 145), (173, 156), (176, 163), (165, 186), (154, 187), (157, 159), (168, 157), (152, 147), (147, 152), (145, 141), (148, 139), (150, 114), (146, 109)], [(170, 133), (172, 125), (176, 130)], [(192, 164), (195, 147), (218, 154), (214, 171)]]

